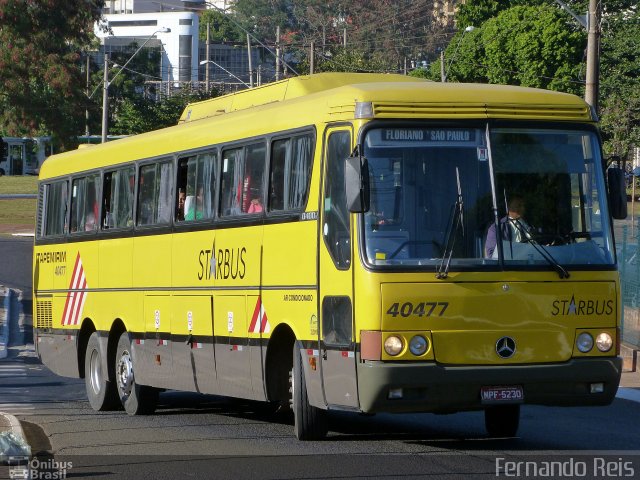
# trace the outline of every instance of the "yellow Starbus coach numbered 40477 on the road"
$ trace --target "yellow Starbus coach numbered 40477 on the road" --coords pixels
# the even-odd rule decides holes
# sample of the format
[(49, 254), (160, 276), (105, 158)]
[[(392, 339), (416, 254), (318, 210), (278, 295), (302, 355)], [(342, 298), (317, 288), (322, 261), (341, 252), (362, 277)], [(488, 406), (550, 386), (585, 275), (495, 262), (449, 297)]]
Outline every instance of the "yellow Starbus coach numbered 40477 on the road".
[(293, 410), (607, 405), (620, 285), (581, 99), (324, 73), (189, 105), (40, 172), (35, 343), (95, 410), (164, 389)]

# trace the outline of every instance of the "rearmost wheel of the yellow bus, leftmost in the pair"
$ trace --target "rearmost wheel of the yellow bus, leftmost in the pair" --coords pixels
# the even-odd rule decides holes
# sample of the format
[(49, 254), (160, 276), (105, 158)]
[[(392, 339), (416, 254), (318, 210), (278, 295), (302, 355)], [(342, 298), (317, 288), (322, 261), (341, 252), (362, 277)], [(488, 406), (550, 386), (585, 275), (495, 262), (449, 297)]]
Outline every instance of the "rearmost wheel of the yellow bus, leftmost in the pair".
[(119, 405), (116, 386), (102, 371), (102, 356), (98, 345), (98, 332), (93, 332), (84, 355), (84, 384), (89, 404), (97, 412), (115, 410)]

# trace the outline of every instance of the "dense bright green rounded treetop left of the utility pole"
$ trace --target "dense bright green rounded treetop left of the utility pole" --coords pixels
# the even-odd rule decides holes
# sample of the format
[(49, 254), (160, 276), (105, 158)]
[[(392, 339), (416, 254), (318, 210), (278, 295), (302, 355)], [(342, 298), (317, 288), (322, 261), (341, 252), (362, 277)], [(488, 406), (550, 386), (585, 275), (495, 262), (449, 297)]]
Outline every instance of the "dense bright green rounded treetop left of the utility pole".
[[(457, 34), (445, 52), (447, 77), (580, 94), (585, 44), (585, 33), (560, 9), (516, 6)], [(436, 62), (432, 78), (439, 72)]]

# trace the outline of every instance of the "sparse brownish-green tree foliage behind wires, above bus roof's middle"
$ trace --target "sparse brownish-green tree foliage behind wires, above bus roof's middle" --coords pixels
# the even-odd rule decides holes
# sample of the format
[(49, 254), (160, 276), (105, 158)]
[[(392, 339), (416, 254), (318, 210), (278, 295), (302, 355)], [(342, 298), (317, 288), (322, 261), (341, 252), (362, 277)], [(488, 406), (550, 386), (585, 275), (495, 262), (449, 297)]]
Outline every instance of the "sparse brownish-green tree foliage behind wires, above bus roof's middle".
[[(375, 57), (376, 64), (384, 62), (382, 70), (397, 72), (403, 69), (405, 59), (432, 59), (438, 48), (446, 45), (451, 27), (443, 26), (433, 15), (434, 3), (434, 0), (237, 0), (234, 11), (237, 20), (262, 40), (275, 40), (279, 25), (279, 40), (289, 54), (302, 62), (308, 57), (311, 42), (323, 55), (338, 54), (337, 48), (343, 46), (346, 35), (347, 47), (359, 62), (351, 70), (360, 70), (362, 61)], [(308, 65), (308, 58), (304, 63)]]

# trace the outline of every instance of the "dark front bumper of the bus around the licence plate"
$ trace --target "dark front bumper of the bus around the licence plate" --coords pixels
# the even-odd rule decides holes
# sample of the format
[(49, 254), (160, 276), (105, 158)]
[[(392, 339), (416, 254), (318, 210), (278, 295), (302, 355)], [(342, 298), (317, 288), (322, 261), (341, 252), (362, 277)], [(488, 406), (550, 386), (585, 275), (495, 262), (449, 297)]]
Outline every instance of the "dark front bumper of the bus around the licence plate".
[[(358, 396), (365, 413), (451, 413), (484, 408), (482, 387), (520, 385), (525, 404), (609, 405), (618, 390), (621, 372), (620, 357), (465, 367), (365, 361), (358, 363)], [(591, 385), (596, 383), (602, 383), (604, 390), (591, 393)]]

